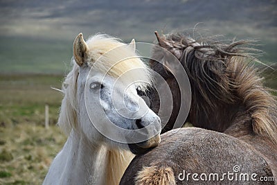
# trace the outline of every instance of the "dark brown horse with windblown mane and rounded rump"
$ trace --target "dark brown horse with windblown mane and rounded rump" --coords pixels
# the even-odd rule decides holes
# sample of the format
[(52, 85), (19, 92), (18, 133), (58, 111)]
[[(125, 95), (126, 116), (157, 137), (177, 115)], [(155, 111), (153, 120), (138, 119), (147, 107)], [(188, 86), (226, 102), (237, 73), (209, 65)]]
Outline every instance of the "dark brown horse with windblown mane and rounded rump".
[[(230, 171), (237, 176), (258, 175), (256, 181), (249, 177), (248, 181), (237, 179), (235, 184), (274, 184), (277, 103), (262, 85), (257, 69), (247, 62), (253, 59), (244, 48), (248, 42), (224, 44), (208, 39), (196, 41), (181, 34), (156, 35), (159, 46), (154, 48), (153, 58), (166, 62), (150, 60), (150, 67), (168, 82), (173, 98), (172, 115), (163, 128), (166, 133), (161, 135), (160, 146), (136, 156), (120, 184), (206, 184), (207, 181), (230, 184), (234, 181), (224, 177), (222, 181), (201, 179), (202, 174), (206, 177), (207, 173), (222, 175)], [(192, 94), (186, 121), (202, 129), (171, 130), (179, 112), (184, 110), (180, 109), (180, 86), (174, 71), (169, 70), (174, 67), (166, 66), (170, 60), (161, 48), (175, 55), (186, 70)], [(150, 93), (151, 106), (156, 111), (157, 96)], [(238, 166), (240, 169), (235, 169)], [(198, 175), (197, 181), (187, 176), (193, 173)], [(268, 177), (268, 181), (262, 182), (262, 177)]]

